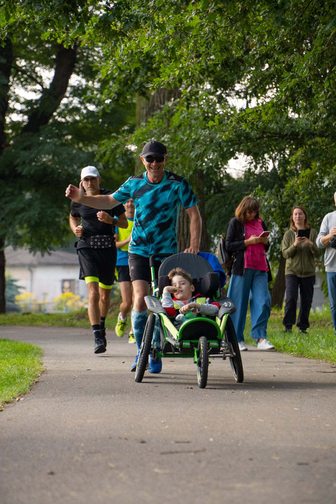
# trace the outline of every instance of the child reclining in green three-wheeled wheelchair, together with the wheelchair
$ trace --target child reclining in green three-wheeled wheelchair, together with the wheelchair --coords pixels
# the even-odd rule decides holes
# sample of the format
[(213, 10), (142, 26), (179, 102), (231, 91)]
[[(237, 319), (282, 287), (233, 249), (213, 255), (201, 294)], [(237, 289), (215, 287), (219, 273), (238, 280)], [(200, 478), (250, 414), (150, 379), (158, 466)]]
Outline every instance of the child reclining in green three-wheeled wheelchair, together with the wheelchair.
[[(157, 260), (162, 261), (156, 280)], [(219, 297), (222, 285), (216, 265), (214, 268), (208, 258), (195, 254), (158, 253), (150, 257), (150, 266), (153, 295), (145, 296), (149, 316), (135, 381), (143, 380), (148, 364), (151, 373), (159, 373), (162, 358), (174, 355), (193, 358), (200, 388), (207, 385), (210, 358), (229, 359), (235, 381), (242, 382), (242, 362), (230, 318), (235, 306), (228, 297)]]

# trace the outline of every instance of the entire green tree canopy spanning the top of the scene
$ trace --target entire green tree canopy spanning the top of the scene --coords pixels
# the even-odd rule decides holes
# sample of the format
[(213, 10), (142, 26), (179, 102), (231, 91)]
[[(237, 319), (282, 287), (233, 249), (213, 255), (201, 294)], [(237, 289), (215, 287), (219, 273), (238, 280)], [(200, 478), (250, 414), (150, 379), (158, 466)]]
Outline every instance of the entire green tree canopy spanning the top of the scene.
[[(29, 182), (19, 186), (24, 198), (17, 203), (18, 226), (13, 236), (31, 241), (34, 229), (25, 229), (20, 216), (34, 209), (36, 202), (27, 220), (38, 229), (34, 215), (43, 205), (42, 195), (51, 194), (50, 184), (63, 186), (71, 172), (64, 170), (66, 156), (71, 169), (81, 164), (81, 153), (89, 159), (88, 152), (109, 165), (123, 166), (125, 160), (132, 162), (127, 145), (140, 147), (150, 138), (160, 138), (173, 153), (170, 167), (176, 166), (203, 193), (210, 234), (225, 232), (223, 227), (218, 229), (220, 224), (226, 226), (241, 197), (253, 192), (268, 226), (274, 228), (271, 250), (279, 261), (292, 206), (303, 204), (315, 227), (332, 208), (335, 38), (336, 6), (331, 0), (25, 0), (19, 6), (15, 1), (0, 4), (0, 57), (6, 62), (0, 116), (8, 115), (6, 106), (11, 100), (6, 97), (9, 87), (15, 87), (15, 78), (20, 76), (25, 83), (35, 80), (35, 84), (40, 80), (34, 62), (43, 59), (37, 57), (42, 45), (49, 51), (44, 58), (47, 54), (50, 58), (49, 65), (44, 60), (45, 68), (52, 67), (54, 76), (57, 58), (63, 56), (68, 74), (74, 72), (71, 65), (76, 75), (81, 75), (80, 68), (86, 83), (72, 84), (69, 77), (70, 109), (62, 99), (58, 105), (53, 101), (62, 95), (64, 85), (61, 89), (51, 83), (38, 98), (20, 99), (25, 118), (21, 124), (9, 123), (6, 138), (5, 129), (0, 132), (10, 179), (14, 180), (13, 170), (21, 175), (22, 183), (22, 174)], [(25, 69), (13, 57), (19, 46)], [(73, 64), (71, 57), (76, 61)], [(14, 60), (15, 67), (9, 63)], [(85, 61), (90, 61), (89, 67)], [(90, 68), (91, 79), (84, 76), (88, 71), (84, 68)], [(136, 93), (148, 97), (164, 88), (178, 89), (176, 98), (133, 135), (130, 104)], [(72, 96), (76, 97), (73, 101)], [(112, 110), (120, 114), (118, 125), (124, 122), (121, 136), (120, 128), (109, 130)], [(104, 114), (106, 119), (99, 122), (97, 118)], [(29, 126), (33, 118), (40, 121), (38, 133)], [(100, 136), (102, 123), (107, 124), (111, 138)], [(55, 129), (62, 134), (55, 135)], [(36, 135), (34, 145), (27, 141), (28, 134)], [(226, 169), (228, 161), (241, 153), (248, 169), (238, 188), (239, 181), (232, 180)], [(9, 183), (5, 190), (9, 206), (15, 187)], [(64, 234), (64, 204), (56, 201), (55, 194), (50, 202), (50, 211), (48, 206), (45, 213), (58, 229), (53, 233), (56, 243)], [(10, 207), (12, 212), (15, 207)], [(36, 231), (36, 239), (44, 232)]]

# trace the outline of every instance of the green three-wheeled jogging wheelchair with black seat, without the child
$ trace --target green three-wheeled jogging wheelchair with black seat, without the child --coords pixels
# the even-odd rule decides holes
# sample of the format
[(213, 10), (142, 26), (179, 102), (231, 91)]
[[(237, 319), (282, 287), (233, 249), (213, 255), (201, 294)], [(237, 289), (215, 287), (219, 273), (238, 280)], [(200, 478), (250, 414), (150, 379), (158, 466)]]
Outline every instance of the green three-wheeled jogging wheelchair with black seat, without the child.
[[(158, 279), (155, 278), (155, 261), (161, 262)], [(219, 276), (209, 262), (195, 254), (154, 254), (150, 257), (150, 267), (153, 294), (145, 297), (149, 316), (139, 351), (135, 381), (143, 380), (151, 355), (153, 359), (172, 356), (193, 358), (197, 367), (198, 387), (201, 389), (207, 386), (210, 358), (229, 359), (235, 381), (243, 382), (239, 346), (230, 318), (236, 308), (229, 297), (220, 297)], [(191, 275), (195, 292), (217, 301), (220, 309), (216, 317), (198, 313), (182, 324), (168, 317), (160, 296), (164, 287), (170, 285), (168, 273), (177, 267)]]

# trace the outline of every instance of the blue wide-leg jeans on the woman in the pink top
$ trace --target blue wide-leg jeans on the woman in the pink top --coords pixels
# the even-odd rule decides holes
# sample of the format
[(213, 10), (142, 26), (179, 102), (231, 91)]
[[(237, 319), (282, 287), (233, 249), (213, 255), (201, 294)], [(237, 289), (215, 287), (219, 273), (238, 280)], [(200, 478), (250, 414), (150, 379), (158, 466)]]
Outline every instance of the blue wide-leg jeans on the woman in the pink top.
[(266, 339), (267, 322), (271, 314), (271, 294), (267, 286), (267, 273), (245, 268), (244, 275), (232, 275), (228, 290), (236, 311), (230, 316), (237, 340), (244, 341), (248, 300), (251, 312), (251, 338), (258, 343)]

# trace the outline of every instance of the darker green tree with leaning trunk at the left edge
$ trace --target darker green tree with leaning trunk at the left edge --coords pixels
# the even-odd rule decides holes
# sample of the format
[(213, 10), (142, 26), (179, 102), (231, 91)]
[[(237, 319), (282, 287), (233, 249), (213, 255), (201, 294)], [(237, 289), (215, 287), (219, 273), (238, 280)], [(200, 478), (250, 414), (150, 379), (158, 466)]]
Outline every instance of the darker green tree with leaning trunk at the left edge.
[(0, 46), (0, 311), (5, 310), (4, 247), (45, 253), (69, 242), (66, 185), (78, 181), (88, 164), (105, 168), (105, 187), (117, 188), (125, 173), (132, 173), (126, 156), (115, 160), (112, 171), (99, 162), (97, 151), (106, 138), (131, 130), (135, 113), (131, 99), (127, 107), (101, 99), (107, 83), (97, 81), (99, 47), (80, 47), (78, 36), (69, 45), (39, 31), (36, 12), (6, 13), (12, 17)]

